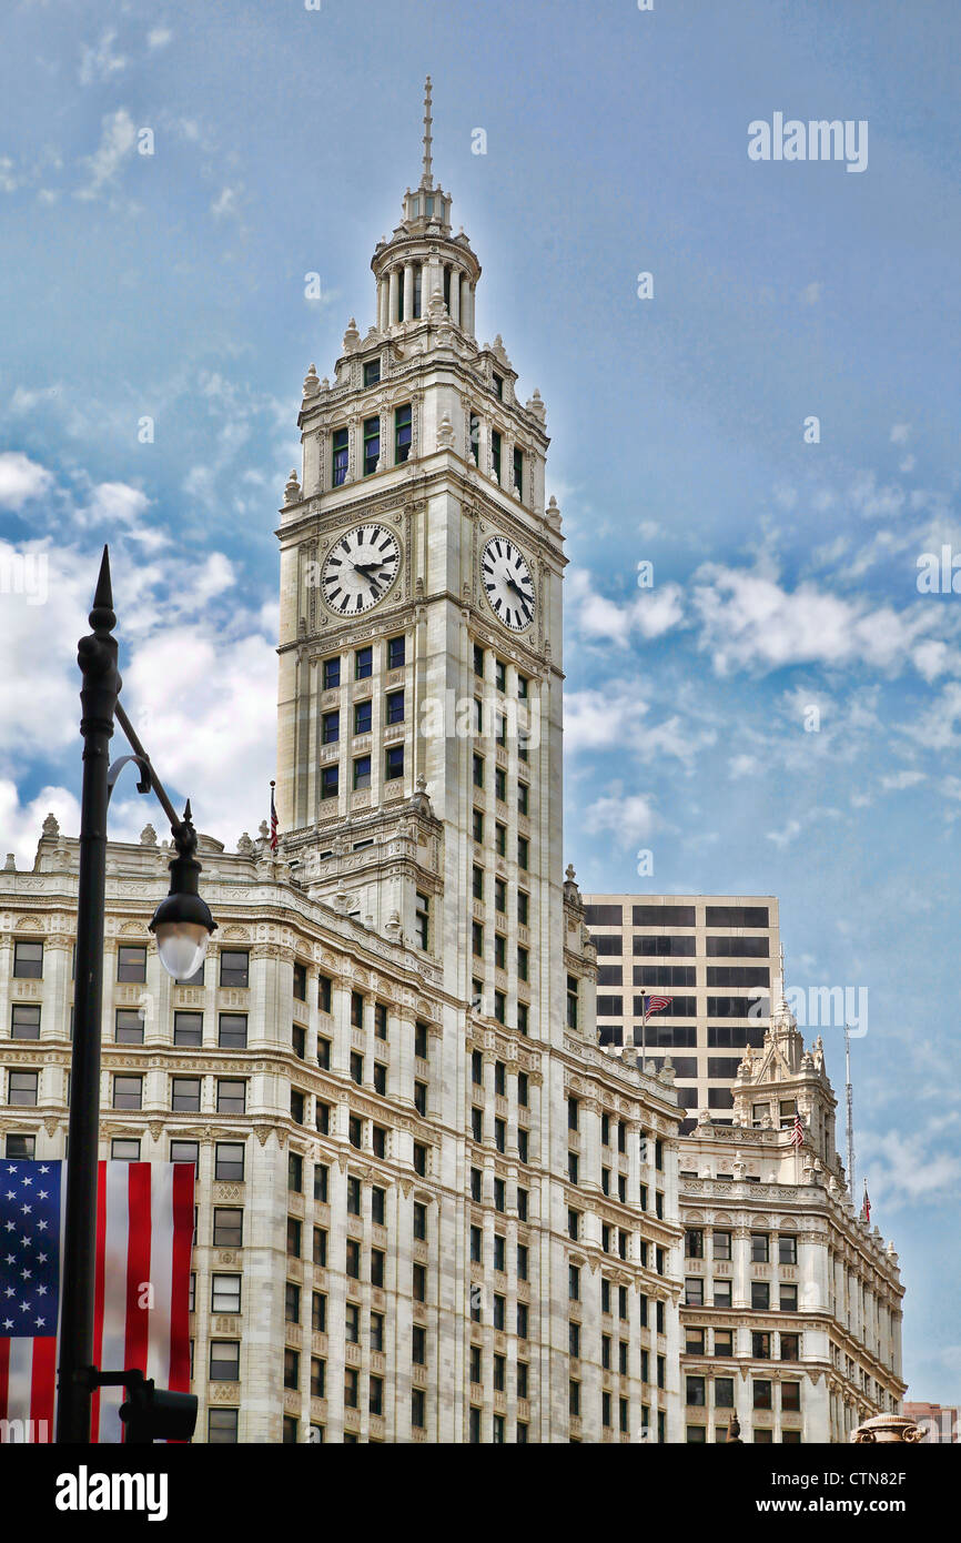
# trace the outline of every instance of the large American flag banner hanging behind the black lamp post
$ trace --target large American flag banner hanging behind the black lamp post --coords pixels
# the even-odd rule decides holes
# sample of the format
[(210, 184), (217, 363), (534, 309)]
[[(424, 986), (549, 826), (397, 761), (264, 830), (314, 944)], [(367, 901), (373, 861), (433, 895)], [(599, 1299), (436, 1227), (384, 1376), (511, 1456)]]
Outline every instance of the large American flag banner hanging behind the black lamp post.
[[(193, 1190), (193, 1163), (99, 1163), (94, 1366), (139, 1367), (157, 1387), (182, 1393), (190, 1390)], [(54, 1438), (65, 1202), (65, 1162), (0, 1162), (0, 1420), (8, 1440)], [(91, 1441), (123, 1440), (125, 1396), (122, 1387), (94, 1390)]]

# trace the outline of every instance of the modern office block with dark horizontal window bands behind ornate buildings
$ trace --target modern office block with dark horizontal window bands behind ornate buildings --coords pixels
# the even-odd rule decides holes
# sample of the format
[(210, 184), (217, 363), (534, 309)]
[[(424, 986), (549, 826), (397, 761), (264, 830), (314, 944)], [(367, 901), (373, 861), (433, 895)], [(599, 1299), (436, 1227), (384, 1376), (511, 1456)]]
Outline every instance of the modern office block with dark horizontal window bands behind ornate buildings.
[[(671, 1058), (685, 1134), (702, 1108), (730, 1125), (740, 1057), (764, 1043), (779, 978), (776, 898), (585, 895), (585, 915), (600, 1043), (643, 1045), (657, 1068)], [(649, 1011), (651, 997), (671, 1000)]]

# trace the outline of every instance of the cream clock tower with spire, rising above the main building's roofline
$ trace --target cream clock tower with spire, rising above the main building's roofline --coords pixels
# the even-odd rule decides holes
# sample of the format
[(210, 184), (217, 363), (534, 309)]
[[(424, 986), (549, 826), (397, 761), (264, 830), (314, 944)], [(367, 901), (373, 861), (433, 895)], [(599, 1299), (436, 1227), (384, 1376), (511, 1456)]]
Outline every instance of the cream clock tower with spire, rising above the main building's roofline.
[(278, 812), (313, 896), (423, 950), (454, 1003), (563, 1035), (561, 552), (546, 410), (423, 173), (375, 319), (304, 381), (281, 526)]

